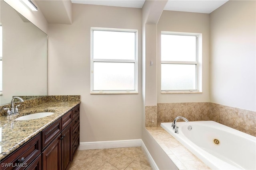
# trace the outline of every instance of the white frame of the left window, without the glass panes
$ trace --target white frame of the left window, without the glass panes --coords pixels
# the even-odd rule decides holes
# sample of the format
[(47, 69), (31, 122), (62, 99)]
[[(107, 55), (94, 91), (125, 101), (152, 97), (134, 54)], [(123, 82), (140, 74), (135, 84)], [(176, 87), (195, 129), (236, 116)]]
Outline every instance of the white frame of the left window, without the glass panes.
[[(135, 36), (134, 59), (94, 59), (93, 57), (93, 31), (114, 31), (114, 32), (132, 32)], [(134, 63), (134, 90), (94, 90), (94, 63)], [(138, 94), (138, 30), (136, 29), (116, 29), (91, 27), (91, 92), (90, 94)]]

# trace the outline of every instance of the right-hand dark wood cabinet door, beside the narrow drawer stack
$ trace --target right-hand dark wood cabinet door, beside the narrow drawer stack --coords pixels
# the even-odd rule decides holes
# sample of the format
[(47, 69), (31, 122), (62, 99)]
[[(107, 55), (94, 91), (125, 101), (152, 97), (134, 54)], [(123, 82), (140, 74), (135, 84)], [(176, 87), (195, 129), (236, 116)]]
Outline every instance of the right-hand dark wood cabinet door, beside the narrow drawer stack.
[(62, 134), (62, 170), (67, 170), (72, 161), (72, 123), (61, 132)]

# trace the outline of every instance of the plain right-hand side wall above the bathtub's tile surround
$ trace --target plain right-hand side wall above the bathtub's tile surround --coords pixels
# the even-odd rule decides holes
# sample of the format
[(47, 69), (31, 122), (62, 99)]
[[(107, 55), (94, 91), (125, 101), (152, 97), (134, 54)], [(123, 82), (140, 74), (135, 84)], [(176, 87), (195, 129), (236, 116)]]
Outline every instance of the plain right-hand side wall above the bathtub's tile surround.
[(228, 1), (210, 14), (210, 101), (256, 111), (256, 1)]

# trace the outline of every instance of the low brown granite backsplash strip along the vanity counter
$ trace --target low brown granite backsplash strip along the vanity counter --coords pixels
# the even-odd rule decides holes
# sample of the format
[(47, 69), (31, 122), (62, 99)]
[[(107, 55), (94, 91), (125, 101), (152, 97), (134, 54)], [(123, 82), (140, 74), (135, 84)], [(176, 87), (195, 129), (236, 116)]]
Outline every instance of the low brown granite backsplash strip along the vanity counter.
[[(52, 101), (52, 102), (57, 102), (57, 101), (80, 101), (80, 95), (69, 95), (69, 96), (43, 96), (40, 98), (34, 98), (34, 99), (30, 99), (30, 100), (25, 100), (24, 102), (22, 102), (22, 104), (19, 107), (19, 110), (23, 110), (26, 109), (28, 107), (33, 107), (33, 106), (37, 106), (39, 104), (43, 104), (45, 102), (48, 101)], [(11, 102), (11, 101), (10, 101)], [(16, 106), (16, 105), (14, 105)], [(0, 106), (0, 116), (5, 116), (6, 115), (6, 111), (3, 109), (3, 107), (11, 107), (11, 104), (6, 104), (6, 105), (1, 105)]]

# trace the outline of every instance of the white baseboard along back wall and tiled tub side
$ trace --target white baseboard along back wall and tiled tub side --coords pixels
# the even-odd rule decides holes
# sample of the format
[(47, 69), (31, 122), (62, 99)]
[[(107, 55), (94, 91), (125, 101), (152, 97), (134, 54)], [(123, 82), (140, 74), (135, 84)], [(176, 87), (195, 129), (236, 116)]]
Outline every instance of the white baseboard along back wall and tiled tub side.
[(146, 145), (142, 139), (134, 140), (122, 140), (122, 141), (99, 141), (99, 142), (80, 142), (78, 150), (88, 150), (88, 149), (108, 149), (108, 148), (125, 148), (125, 147), (142, 147), (145, 152), (148, 162), (153, 170), (159, 170), (156, 162), (152, 158), (150, 152), (146, 148)]

